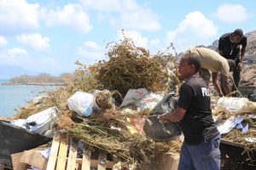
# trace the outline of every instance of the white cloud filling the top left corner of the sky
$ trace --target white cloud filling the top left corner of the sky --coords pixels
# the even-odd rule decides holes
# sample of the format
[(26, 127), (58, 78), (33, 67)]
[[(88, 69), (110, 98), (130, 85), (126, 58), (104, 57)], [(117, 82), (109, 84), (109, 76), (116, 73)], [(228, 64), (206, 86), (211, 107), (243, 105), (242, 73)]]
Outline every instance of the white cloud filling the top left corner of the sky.
[(0, 33), (14, 34), (38, 28), (38, 3), (0, 0)]

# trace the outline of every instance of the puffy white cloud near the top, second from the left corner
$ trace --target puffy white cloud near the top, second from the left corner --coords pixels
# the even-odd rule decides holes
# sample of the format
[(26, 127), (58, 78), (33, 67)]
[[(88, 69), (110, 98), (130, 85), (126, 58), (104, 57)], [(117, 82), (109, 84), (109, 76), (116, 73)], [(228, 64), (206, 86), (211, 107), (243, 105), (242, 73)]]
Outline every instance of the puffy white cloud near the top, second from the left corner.
[(87, 33), (92, 29), (90, 16), (80, 4), (67, 4), (55, 10), (42, 10), (47, 26), (69, 26), (76, 31)]

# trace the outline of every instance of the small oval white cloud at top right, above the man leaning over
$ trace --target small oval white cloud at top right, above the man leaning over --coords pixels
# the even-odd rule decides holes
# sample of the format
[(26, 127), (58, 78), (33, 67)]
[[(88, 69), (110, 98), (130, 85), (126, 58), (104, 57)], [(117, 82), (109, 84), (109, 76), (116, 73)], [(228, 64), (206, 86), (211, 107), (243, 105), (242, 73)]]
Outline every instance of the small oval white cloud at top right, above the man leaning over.
[(240, 4), (223, 4), (217, 9), (217, 12), (213, 14), (218, 17), (218, 20), (228, 23), (241, 23), (245, 22), (250, 14), (247, 13), (247, 9)]

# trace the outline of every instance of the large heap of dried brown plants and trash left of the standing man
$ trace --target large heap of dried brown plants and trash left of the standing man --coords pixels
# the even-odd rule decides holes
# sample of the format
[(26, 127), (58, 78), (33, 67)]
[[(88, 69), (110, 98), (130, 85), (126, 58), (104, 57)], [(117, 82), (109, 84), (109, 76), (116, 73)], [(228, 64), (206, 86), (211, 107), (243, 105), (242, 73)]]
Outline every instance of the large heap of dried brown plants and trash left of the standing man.
[[(143, 132), (154, 106), (179, 83), (175, 74), (168, 74), (177, 69), (176, 57), (152, 56), (129, 38), (107, 48), (108, 60), (90, 67), (76, 62), (79, 68), (66, 87), (50, 92), (40, 105), (32, 102), (21, 108), (15, 119), (55, 107), (58, 129), (66, 129), (91, 150), (103, 150), (116, 160), (145, 169), (158, 155), (180, 150), (180, 139), (156, 141)], [(173, 63), (172, 68), (167, 63)], [(135, 91), (127, 97), (129, 89)]]

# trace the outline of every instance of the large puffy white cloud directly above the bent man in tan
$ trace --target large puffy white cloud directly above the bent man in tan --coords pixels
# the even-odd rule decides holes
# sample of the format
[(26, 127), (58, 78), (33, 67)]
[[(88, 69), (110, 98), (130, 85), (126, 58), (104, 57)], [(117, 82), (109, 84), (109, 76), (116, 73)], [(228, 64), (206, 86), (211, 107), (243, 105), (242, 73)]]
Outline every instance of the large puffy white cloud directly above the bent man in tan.
[(217, 34), (218, 27), (204, 14), (195, 11), (186, 15), (177, 29), (167, 32), (167, 42), (173, 42), (177, 52), (182, 52), (191, 45), (207, 45), (209, 39)]

